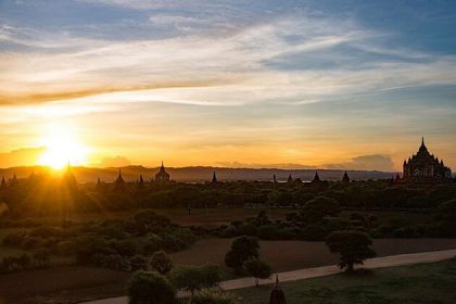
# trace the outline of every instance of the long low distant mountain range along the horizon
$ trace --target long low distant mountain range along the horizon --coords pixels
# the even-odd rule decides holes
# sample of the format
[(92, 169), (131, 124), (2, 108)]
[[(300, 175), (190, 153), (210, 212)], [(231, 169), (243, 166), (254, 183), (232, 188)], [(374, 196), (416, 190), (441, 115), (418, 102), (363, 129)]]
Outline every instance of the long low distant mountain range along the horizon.
[[(94, 168), (94, 167), (73, 167), (72, 168), (79, 182), (94, 182), (98, 178), (102, 181), (113, 181), (117, 175), (117, 167)], [(159, 167), (148, 168), (143, 166), (125, 166), (122, 167), (122, 176), (126, 181), (136, 181), (139, 175), (149, 181), (154, 178), (159, 172)], [(166, 168), (173, 180), (182, 182), (201, 182), (211, 181), (213, 173), (217, 175), (219, 181), (236, 180), (273, 180), (275, 174), (277, 180), (286, 181), (291, 174), (293, 178), (301, 178), (303, 181), (311, 181), (314, 178), (315, 169), (276, 169), (276, 168), (228, 168), (228, 167), (179, 167)], [(17, 178), (28, 177), (31, 173), (43, 174), (51, 173), (48, 167), (30, 166), (30, 167), (11, 167), (0, 169), (0, 178), (4, 176), (8, 180), (15, 174)], [(322, 180), (341, 180), (345, 170), (341, 169), (318, 169), (318, 175)], [(395, 177), (395, 172), (377, 172), (377, 170), (347, 170), (351, 179), (385, 179)]]

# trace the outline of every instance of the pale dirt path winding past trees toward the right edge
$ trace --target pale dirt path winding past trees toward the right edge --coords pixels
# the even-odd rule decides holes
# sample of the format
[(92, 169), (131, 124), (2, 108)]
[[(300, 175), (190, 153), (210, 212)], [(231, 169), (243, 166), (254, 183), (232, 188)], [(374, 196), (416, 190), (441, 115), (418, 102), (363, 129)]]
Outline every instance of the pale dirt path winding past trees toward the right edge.
[[(394, 267), (409, 264), (418, 263), (432, 263), (439, 262), (456, 256), (456, 250), (444, 250), (444, 251), (432, 251), (432, 252), (421, 252), (421, 253), (411, 253), (411, 254), (400, 254), (391, 255), (383, 257), (376, 257), (369, 261), (366, 261), (364, 268), (382, 268), (382, 267)], [(282, 282), (286, 281), (295, 281), (302, 279), (309, 279), (316, 277), (325, 277), (329, 275), (334, 275), (340, 273), (338, 266), (322, 266), (314, 267), (306, 269), (299, 269), (286, 273), (279, 273), (279, 279)], [(271, 278), (274, 278), (271, 276)], [(261, 284), (270, 284), (273, 279), (262, 280)], [(252, 278), (241, 278), (229, 281), (223, 281), (219, 283), (220, 288), (224, 290), (233, 290), (241, 288), (249, 288), (255, 286), (255, 282)], [(84, 304), (127, 304), (127, 296), (110, 297), (98, 301), (84, 302)]]

